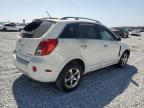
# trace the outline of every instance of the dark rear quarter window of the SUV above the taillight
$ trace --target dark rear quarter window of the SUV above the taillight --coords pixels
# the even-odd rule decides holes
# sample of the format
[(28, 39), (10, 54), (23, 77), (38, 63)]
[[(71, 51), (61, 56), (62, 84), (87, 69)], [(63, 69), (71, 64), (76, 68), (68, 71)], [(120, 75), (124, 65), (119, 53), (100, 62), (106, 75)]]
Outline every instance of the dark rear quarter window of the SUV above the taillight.
[(78, 38), (77, 24), (68, 24), (61, 33), (60, 38)]

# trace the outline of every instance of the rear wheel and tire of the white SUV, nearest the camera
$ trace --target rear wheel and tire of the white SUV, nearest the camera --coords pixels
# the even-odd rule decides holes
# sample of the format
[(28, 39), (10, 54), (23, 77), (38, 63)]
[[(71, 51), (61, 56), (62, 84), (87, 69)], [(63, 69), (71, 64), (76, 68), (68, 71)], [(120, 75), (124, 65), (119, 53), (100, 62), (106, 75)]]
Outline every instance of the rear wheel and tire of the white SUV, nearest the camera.
[(75, 90), (81, 82), (83, 76), (82, 67), (75, 62), (66, 65), (56, 80), (59, 89), (66, 92)]

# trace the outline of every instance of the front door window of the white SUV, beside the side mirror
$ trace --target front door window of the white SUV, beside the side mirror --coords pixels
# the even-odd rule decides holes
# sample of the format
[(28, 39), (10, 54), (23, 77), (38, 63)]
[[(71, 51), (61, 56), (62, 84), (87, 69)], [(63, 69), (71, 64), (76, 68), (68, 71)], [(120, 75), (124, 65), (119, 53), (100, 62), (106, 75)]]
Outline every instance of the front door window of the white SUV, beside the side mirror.
[(100, 35), (102, 40), (114, 41), (115, 37), (105, 28), (100, 28)]

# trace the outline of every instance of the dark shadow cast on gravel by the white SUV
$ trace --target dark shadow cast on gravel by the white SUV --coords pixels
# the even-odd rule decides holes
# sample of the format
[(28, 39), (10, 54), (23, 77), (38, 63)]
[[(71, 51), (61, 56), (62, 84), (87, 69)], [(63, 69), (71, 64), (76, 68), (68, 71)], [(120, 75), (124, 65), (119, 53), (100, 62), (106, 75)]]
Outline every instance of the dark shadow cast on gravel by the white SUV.
[(137, 68), (110, 66), (84, 76), (73, 92), (63, 92), (55, 83), (40, 83), (21, 75), (13, 83), (13, 95), (19, 108), (102, 108), (133, 83)]

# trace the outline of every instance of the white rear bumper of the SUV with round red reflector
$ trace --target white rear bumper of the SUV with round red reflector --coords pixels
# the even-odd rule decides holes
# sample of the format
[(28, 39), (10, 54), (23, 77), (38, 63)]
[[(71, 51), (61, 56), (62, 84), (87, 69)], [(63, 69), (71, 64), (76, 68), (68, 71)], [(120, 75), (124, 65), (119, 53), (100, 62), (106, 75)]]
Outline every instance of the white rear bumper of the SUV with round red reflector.
[[(14, 58), (14, 64), (18, 70), (20, 70), (23, 74), (26, 76), (40, 81), (40, 82), (55, 82), (59, 73), (55, 72), (54, 69), (52, 69), (48, 63), (44, 63), (41, 61), (26, 61), (18, 56), (16, 54), (13, 54)], [(37, 67), (37, 71), (33, 72), (32, 67)], [(45, 70), (51, 70), (52, 72), (46, 72)]]

